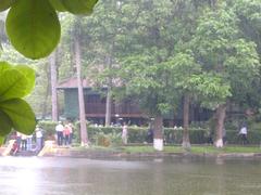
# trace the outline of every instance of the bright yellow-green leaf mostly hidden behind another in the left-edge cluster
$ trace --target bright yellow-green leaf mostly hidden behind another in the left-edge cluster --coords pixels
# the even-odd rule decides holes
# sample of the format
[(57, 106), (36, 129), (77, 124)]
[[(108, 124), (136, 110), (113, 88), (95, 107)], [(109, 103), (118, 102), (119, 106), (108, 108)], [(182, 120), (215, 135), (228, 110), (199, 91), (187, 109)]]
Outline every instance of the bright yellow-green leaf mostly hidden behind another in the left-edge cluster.
[(30, 92), (35, 88), (35, 70), (26, 65), (16, 65), (14, 68), (20, 70), (26, 77), (26, 92)]

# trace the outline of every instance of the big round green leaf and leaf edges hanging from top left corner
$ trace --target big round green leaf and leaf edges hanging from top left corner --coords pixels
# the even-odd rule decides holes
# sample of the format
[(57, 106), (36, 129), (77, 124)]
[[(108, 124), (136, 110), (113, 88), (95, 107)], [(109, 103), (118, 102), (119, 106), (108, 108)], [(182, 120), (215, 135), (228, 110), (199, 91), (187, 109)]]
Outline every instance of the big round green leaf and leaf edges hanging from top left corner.
[(98, 0), (0, 0), (0, 11), (10, 11), (7, 34), (13, 47), (28, 58), (48, 56), (61, 37), (57, 11), (90, 14)]

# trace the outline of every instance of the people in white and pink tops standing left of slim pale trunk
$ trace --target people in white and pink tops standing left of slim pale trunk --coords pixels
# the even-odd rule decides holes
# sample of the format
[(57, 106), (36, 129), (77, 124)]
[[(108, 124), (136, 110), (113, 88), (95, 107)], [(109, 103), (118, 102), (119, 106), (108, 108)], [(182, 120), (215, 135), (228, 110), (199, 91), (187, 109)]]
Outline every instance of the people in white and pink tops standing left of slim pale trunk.
[(66, 122), (65, 125), (62, 121), (55, 127), (57, 131), (57, 144), (58, 145), (71, 145), (73, 140), (73, 125), (71, 122)]

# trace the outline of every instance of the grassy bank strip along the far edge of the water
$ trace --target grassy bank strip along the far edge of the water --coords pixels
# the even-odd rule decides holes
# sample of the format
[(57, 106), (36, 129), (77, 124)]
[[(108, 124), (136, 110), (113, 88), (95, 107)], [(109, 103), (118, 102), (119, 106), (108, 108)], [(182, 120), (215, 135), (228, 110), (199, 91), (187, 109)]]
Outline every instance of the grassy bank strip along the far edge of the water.
[[(0, 148), (0, 156), (10, 156), (12, 144)], [(216, 148), (213, 145), (192, 145), (189, 151), (179, 145), (164, 146), (164, 151), (154, 151), (152, 145), (115, 145), (104, 146), (58, 146), (54, 141), (46, 141), (39, 152), (22, 151), (14, 156), (72, 157), (72, 158), (167, 158), (167, 157), (204, 157), (204, 158), (260, 158), (258, 145), (226, 145)]]

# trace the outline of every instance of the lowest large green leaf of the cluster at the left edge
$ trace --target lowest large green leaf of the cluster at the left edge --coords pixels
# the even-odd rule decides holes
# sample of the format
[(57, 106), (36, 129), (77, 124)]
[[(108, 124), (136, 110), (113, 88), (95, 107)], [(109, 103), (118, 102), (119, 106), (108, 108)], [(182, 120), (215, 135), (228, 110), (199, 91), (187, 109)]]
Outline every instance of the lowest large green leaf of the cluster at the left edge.
[(35, 130), (35, 114), (24, 100), (13, 99), (1, 102), (0, 110), (9, 116), (15, 130), (25, 134), (32, 134)]

